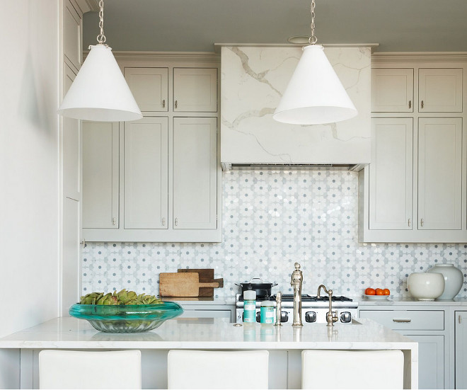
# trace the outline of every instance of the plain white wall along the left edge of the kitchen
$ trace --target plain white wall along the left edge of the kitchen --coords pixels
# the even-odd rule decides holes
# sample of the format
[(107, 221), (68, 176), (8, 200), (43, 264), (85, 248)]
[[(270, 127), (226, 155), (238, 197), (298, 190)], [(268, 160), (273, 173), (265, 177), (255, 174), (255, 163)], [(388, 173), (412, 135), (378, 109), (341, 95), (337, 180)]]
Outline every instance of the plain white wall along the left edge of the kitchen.
[[(2, 1), (0, 47), (1, 337), (59, 310), (59, 0)], [(18, 387), (0, 354), (0, 387)]]

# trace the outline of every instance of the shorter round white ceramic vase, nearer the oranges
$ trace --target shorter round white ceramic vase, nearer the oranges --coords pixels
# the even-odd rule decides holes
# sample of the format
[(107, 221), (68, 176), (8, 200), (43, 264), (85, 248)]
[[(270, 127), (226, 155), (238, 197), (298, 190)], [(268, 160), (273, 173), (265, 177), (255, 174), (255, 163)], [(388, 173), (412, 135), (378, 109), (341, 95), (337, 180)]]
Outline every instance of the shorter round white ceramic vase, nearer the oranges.
[(411, 273), (407, 288), (419, 301), (433, 301), (444, 292), (444, 277), (441, 273)]

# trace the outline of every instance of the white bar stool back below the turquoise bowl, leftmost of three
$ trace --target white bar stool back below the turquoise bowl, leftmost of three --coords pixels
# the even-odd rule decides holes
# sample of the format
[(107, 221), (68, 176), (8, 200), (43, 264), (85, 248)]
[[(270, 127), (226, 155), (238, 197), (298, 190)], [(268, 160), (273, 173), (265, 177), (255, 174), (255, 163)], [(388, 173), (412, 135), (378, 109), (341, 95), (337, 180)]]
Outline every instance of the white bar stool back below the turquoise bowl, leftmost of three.
[(141, 352), (42, 350), (39, 389), (141, 389)]

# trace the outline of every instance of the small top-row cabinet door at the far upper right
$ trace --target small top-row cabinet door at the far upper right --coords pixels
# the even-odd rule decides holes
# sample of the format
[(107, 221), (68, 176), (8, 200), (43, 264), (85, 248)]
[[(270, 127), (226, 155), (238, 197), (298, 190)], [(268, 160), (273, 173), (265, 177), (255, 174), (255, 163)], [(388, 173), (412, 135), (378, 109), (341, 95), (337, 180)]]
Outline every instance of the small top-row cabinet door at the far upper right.
[(420, 113), (462, 112), (462, 69), (419, 69), (418, 74)]

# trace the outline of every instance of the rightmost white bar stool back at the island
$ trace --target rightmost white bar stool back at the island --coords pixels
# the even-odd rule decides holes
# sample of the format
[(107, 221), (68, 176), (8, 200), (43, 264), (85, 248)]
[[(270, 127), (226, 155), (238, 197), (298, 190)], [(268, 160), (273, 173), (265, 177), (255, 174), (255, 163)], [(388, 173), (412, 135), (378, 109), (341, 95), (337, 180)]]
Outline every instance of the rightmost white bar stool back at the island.
[(302, 389), (403, 389), (400, 350), (301, 352)]

